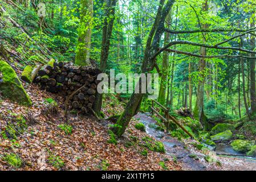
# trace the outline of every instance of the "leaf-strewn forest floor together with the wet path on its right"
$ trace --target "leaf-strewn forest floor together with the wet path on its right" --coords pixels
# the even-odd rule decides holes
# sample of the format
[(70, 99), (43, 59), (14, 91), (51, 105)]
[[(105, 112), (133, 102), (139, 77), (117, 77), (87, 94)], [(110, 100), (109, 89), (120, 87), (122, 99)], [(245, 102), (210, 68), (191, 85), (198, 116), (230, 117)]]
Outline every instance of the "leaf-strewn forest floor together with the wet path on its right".
[[(69, 114), (64, 117), (63, 98), (40, 90), (35, 84), (24, 85), (33, 105), (31, 107), (0, 101), (3, 115), (13, 117), (21, 114), (27, 118), (27, 129), (17, 139), (0, 137), (0, 170), (255, 170), (256, 160), (217, 156), (209, 150), (198, 150), (192, 139), (178, 140), (148, 125), (156, 121), (145, 113), (137, 114), (131, 121), (124, 137), (117, 144), (108, 143), (109, 124), (104, 119), (97, 121), (91, 115)], [(60, 106), (56, 115), (44, 114), (46, 98), (54, 98)], [(103, 103), (105, 117), (120, 113), (123, 104), (107, 96)], [(14, 114), (15, 113), (15, 114)], [(29, 113), (29, 116), (28, 116)], [(1, 130), (9, 117), (0, 117)], [(147, 132), (135, 129), (143, 122)], [(66, 134), (60, 125), (71, 125), (72, 134)], [(148, 150), (145, 138), (160, 141), (165, 153)], [(143, 155), (147, 149), (148, 154)], [(22, 166), (10, 166), (3, 156), (15, 154)], [(197, 158), (191, 157), (196, 155)], [(211, 155), (212, 162), (205, 156)]]

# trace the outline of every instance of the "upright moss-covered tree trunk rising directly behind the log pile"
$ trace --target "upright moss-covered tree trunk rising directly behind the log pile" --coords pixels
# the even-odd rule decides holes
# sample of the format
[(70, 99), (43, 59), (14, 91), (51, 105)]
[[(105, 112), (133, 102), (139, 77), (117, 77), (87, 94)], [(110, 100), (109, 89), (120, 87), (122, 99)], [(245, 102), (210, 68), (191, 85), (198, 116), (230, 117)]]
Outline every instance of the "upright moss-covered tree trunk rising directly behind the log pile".
[(76, 65), (91, 65), (90, 49), (91, 49), (91, 34), (92, 21), (94, 14), (94, 1), (80, 1), (80, 24), (78, 28), (78, 44), (76, 46)]

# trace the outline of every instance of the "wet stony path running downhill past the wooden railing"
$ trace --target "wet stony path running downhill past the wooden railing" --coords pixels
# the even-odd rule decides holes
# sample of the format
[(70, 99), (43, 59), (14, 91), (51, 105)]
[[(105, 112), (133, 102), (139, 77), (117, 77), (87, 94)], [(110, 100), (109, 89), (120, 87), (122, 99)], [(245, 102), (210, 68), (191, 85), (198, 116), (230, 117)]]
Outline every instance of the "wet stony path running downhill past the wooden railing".
[[(170, 137), (162, 131), (156, 131), (149, 127), (151, 123), (156, 123), (155, 119), (148, 114), (139, 113), (135, 115), (136, 119), (143, 122), (148, 135), (164, 143), (166, 154), (176, 156), (177, 160), (182, 163), (183, 170), (189, 171), (210, 171), (210, 170), (256, 170), (256, 159), (233, 157), (233, 156), (216, 156), (216, 159), (221, 162), (221, 167), (216, 164), (209, 164), (204, 159), (204, 154), (198, 152), (195, 148), (188, 146), (180, 140)], [(196, 154), (198, 160), (189, 157), (190, 154)]]

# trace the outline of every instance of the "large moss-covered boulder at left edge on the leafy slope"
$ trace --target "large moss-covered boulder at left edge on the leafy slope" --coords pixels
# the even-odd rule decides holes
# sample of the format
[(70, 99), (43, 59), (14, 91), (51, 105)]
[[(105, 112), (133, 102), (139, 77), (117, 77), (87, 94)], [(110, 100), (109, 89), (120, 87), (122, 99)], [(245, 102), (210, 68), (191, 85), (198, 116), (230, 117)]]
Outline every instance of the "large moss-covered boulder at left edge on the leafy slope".
[(0, 60), (0, 93), (3, 97), (22, 105), (32, 105), (30, 97), (23, 88), (13, 68), (5, 61)]

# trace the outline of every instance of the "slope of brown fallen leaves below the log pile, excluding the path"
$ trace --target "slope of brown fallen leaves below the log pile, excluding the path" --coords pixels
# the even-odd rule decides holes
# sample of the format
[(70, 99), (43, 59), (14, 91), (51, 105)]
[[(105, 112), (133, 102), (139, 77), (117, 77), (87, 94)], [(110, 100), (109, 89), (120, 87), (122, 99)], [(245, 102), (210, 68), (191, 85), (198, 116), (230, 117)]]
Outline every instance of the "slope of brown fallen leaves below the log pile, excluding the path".
[[(181, 170), (181, 164), (176, 163), (172, 156), (150, 150), (147, 156), (143, 156), (141, 151), (145, 147), (129, 144), (131, 136), (139, 141), (148, 136), (134, 128), (134, 119), (124, 137), (117, 140), (116, 145), (110, 144), (107, 142), (110, 123), (98, 122), (91, 116), (72, 114), (65, 119), (63, 109), (60, 108), (55, 116), (46, 116), (43, 114), (44, 99), (54, 98), (62, 105), (62, 98), (44, 92), (34, 84), (25, 85), (25, 88), (34, 103), (32, 107), (20, 106), (6, 100), (0, 102), (2, 114), (15, 113), (27, 116), (27, 113), (30, 113), (33, 121), (29, 122), (27, 130), (17, 140), (3, 139), (1, 135), (0, 170)], [(120, 112), (121, 109), (120, 106), (111, 108), (110, 111), (104, 108), (104, 111), (108, 116)], [(73, 127), (70, 135), (58, 127), (67, 122)], [(1, 118), (1, 129), (6, 126), (5, 123), (5, 118)], [(10, 166), (3, 160), (3, 156), (11, 153), (22, 159), (20, 168)], [(160, 165), (161, 162), (164, 166)]]

